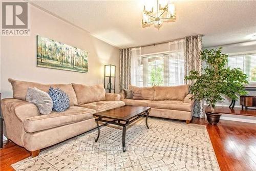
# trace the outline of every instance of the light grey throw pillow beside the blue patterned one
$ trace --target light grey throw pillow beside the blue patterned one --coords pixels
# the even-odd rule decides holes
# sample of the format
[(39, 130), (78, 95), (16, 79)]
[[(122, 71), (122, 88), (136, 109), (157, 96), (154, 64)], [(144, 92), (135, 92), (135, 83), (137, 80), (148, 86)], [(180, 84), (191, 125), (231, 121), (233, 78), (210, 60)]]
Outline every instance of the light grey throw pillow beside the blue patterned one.
[(26, 101), (34, 103), (39, 112), (43, 115), (49, 115), (52, 112), (53, 102), (48, 93), (37, 89), (36, 87), (28, 88)]

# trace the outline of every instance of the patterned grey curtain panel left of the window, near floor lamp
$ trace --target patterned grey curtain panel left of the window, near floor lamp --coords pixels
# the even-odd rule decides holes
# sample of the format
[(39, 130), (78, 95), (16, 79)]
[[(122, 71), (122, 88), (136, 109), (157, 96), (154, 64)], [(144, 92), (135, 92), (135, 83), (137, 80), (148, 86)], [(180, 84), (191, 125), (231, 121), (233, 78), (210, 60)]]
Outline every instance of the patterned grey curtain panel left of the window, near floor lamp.
[(120, 49), (120, 83), (119, 91), (128, 89), (131, 84), (131, 48)]

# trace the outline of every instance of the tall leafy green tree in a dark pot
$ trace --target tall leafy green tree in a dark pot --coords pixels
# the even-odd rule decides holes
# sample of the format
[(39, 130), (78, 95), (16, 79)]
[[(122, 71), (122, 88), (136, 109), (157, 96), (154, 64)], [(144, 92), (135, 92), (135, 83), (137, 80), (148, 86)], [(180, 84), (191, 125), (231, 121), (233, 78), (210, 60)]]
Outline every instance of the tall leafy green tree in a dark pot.
[(239, 68), (227, 67), (228, 55), (219, 49), (203, 50), (201, 60), (206, 61), (202, 72), (190, 71), (185, 77), (191, 81), (190, 93), (194, 94), (191, 99), (204, 100), (211, 108), (206, 112), (207, 120), (211, 124), (217, 124), (221, 114), (215, 113), (217, 101), (224, 100), (223, 96), (231, 100), (238, 99), (238, 95), (246, 95), (244, 84), (248, 84), (247, 76)]

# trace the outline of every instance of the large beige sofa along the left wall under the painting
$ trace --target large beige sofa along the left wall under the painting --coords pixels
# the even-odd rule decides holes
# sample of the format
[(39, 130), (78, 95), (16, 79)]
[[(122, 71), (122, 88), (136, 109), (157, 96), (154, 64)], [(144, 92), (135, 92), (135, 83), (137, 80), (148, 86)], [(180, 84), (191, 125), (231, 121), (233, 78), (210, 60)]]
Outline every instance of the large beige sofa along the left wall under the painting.
[[(25, 147), (31, 156), (49, 147), (96, 127), (93, 114), (124, 105), (119, 94), (105, 93), (102, 85), (41, 84), (9, 79), (13, 98), (2, 100), (5, 136)], [(52, 111), (41, 115), (36, 105), (25, 101), (27, 89), (36, 87), (48, 92), (49, 87), (60, 88), (70, 98), (70, 108), (65, 112)]]

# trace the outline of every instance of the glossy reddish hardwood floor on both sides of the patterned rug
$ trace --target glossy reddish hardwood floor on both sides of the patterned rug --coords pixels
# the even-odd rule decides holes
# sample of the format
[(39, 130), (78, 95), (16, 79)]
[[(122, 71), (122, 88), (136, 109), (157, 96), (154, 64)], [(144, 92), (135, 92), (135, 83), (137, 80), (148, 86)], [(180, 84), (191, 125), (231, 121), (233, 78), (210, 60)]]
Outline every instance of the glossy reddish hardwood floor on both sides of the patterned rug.
[[(206, 125), (221, 170), (256, 170), (256, 124), (221, 120), (218, 125), (193, 118), (190, 123)], [(0, 149), (0, 170), (30, 156), (25, 148), (7, 143)]]

